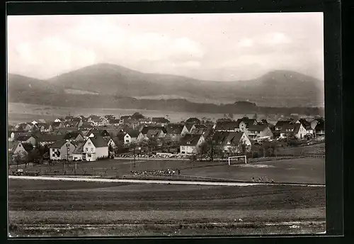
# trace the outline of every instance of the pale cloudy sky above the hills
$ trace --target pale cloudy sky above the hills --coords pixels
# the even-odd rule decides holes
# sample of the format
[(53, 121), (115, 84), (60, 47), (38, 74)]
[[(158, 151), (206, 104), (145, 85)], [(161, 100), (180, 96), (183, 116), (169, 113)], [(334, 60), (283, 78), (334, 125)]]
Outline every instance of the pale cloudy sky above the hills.
[(8, 16), (7, 47), (8, 72), (38, 79), (102, 62), (215, 81), (324, 79), (322, 13)]

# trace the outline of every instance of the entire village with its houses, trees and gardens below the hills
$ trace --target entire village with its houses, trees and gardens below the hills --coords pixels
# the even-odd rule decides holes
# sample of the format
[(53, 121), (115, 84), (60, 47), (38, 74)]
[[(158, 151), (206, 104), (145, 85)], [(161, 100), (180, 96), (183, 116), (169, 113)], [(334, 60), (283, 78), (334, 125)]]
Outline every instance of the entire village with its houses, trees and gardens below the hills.
[[(66, 116), (19, 123), (8, 131), (9, 165), (56, 161), (96, 161), (122, 157), (215, 160), (233, 155), (265, 157), (277, 146), (309, 145), (324, 140), (324, 118), (287, 118), (268, 123), (256, 118), (188, 118), (170, 123), (141, 113)], [(257, 148), (255, 152), (255, 148)], [(269, 153), (270, 152), (270, 153)], [(273, 153), (272, 153), (273, 152)], [(271, 155), (270, 155), (271, 156)]]

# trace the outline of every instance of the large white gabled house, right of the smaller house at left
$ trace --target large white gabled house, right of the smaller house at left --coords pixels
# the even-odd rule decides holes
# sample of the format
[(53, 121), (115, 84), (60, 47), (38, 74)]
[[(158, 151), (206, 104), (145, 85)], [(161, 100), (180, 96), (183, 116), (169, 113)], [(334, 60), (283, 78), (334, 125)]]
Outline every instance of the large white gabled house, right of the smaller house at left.
[(96, 161), (101, 157), (108, 157), (107, 141), (102, 137), (88, 138), (83, 146), (82, 160)]

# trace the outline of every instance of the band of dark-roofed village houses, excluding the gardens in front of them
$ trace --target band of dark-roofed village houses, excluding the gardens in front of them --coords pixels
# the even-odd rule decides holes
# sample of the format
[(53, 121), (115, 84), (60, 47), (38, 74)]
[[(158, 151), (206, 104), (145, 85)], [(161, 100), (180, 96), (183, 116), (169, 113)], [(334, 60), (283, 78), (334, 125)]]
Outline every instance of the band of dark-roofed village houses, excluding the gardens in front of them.
[[(98, 120), (114, 121), (117, 124), (98, 126)], [(132, 121), (138, 121), (137, 125), (132, 126)], [(78, 124), (72, 126), (72, 123)], [(324, 135), (323, 118), (313, 121), (278, 121), (273, 126), (266, 120), (244, 117), (236, 121), (219, 120), (210, 126), (202, 124), (198, 118), (188, 118), (184, 123), (170, 123), (166, 118), (135, 119), (132, 116), (120, 116), (116, 119), (113, 115), (106, 115), (57, 118), (48, 127), (40, 120), (26, 124), (40, 130), (28, 132), (21, 130), (23, 127), (18, 130), (20, 126), (17, 130), (15, 127), (15, 130), (9, 131), (9, 142), (16, 143), (11, 149), (9, 147), (9, 151), (17, 153), (21, 146), (23, 148), (27, 144), (48, 145), (52, 160), (92, 161), (98, 157), (107, 157), (109, 150), (118, 144), (130, 145), (163, 138), (178, 143), (180, 153), (196, 153), (212, 132), (212, 140), (223, 151), (234, 150), (241, 144), (251, 146), (253, 140), (285, 138), (289, 133), (296, 138)]]

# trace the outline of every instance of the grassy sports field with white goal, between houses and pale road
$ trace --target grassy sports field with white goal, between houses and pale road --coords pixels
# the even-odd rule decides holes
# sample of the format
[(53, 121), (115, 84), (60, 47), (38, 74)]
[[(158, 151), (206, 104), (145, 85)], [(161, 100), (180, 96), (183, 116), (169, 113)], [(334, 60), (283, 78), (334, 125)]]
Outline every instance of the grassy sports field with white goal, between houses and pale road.
[[(134, 167), (135, 165), (135, 167)], [(214, 165), (214, 166), (210, 166)], [(287, 183), (312, 183), (324, 184), (325, 182), (324, 158), (293, 158), (287, 160), (272, 160), (264, 162), (250, 162), (247, 165), (231, 165), (227, 162), (190, 162), (190, 161), (161, 161), (161, 160), (104, 160), (97, 162), (79, 162), (77, 169), (71, 163), (66, 165), (66, 174), (99, 174), (103, 177), (122, 177), (129, 175), (130, 171), (144, 170), (181, 170), (181, 175), (211, 177), (217, 179), (236, 179), (252, 181), (264, 177), (274, 182)], [(63, 174), (64, 166), (57, 164), (52, 167), (47, 165), (28, 167), (27, 170), (40, 170), (41, 174), (49, 174), (55, 170)]]

